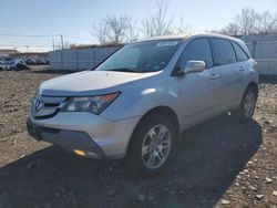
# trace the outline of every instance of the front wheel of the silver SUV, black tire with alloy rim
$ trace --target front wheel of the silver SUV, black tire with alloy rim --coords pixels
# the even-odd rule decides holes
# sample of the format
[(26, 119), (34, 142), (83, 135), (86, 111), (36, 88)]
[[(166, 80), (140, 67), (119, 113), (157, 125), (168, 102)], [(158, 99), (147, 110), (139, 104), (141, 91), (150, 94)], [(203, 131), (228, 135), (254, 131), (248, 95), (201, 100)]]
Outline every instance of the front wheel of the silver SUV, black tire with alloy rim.
[(164, 115), (150, 115), (140, 122), (127, 154), (131, 169), (147, 176), (160, 173), (173, 155), (176, 135), (173, 122)]

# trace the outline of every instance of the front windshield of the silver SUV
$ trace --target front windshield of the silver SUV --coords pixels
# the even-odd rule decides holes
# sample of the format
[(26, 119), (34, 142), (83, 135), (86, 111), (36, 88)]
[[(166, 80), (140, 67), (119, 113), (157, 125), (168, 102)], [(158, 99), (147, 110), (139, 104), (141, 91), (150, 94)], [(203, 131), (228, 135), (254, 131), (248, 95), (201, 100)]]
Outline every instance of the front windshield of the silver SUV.
[(178, 49), (179, 43), (179, 39), (132, 43), (115, 52), (96, 70), (137, 73), (156, 72), (166, 66)]

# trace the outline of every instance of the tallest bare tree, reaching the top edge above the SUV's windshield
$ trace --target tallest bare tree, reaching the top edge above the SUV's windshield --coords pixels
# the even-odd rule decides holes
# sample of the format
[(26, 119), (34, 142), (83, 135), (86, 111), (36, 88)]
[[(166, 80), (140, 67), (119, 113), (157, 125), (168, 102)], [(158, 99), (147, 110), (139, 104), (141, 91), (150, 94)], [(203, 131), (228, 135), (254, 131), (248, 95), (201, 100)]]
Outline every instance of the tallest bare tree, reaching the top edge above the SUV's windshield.
[(165, 35), (173, 33), (173, 19), (167, 17), (168, 3), (157, 1), (157, 9), (151, 12), (150, 17), (142, 21), (143, 32), (146, 37)]

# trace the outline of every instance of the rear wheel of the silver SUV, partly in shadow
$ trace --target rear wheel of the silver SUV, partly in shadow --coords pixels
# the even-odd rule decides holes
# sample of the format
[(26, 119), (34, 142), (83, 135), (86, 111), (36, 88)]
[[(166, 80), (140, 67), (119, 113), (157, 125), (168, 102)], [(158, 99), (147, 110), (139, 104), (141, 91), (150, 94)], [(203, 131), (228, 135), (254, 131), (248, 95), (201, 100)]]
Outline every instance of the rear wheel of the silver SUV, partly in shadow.
[(257, 91), (254, 87), (248, 87), (244, 93), (239, 107), (235, 112), (235, 116), (244, 121), (252, 119), (255, 113), (257, 97)]

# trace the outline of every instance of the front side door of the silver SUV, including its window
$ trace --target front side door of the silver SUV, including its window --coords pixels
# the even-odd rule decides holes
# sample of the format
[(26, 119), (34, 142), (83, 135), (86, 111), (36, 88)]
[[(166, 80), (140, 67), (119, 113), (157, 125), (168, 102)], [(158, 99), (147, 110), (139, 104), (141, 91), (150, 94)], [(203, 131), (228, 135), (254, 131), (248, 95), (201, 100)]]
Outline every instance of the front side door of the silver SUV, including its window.
[(220, 69), (213, 67), (211, 44), (207, 38), (191, 41), (185, 48), (177, 66), (184, 69), (188, 61), (204, 61), (206, 70), (199, 73), (185, 74), (184, 77), (179, 79), (185, 127), (218, 114), (222, 101)]

